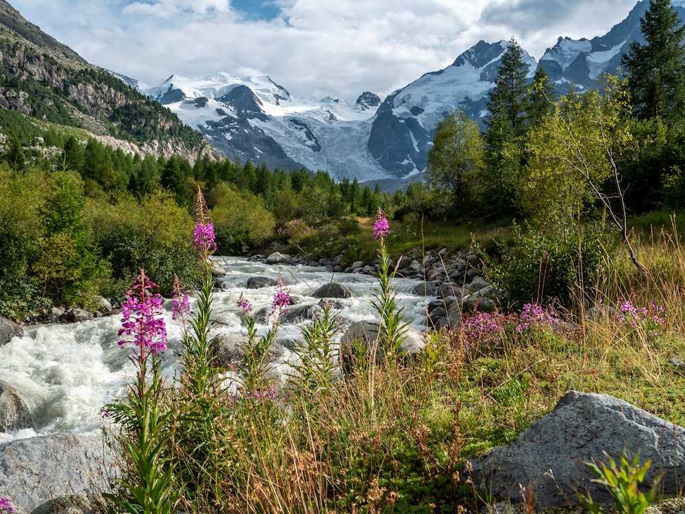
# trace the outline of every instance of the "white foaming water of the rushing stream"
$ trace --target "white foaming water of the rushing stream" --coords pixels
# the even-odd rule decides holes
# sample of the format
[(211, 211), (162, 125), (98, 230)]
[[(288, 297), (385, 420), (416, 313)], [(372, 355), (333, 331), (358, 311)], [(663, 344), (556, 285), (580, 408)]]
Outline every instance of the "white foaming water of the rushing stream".
[[(219, 332), (245, 332), (242, 310), (236, 306), (240, 293), (253, 304), (253, 312), (271, 307), (273, 287), (246, 289), (247, 279), (253, 276), (277, 278), (281, 273), (290, 295), (301, 297), (301, 304), (318, 304), (312, 293), (332, 280), (342, 282), (354, 293), (343, 300), (340, 312), (344, 321), (375, 319), (371, 305), (377, 279), (351, 273), (332, 273), (321, 267), (265, 265), (248, 262), (243, 258), (219, 258), (226, 269), (223, 290), (214, 293), (214, 324), (212, 334)], [(403, 308), (405, 320), (419, 330), (425, 327), (425, 299), (412, 294), (417, 280), (395, 280), (397, 302)], [(178, 369), (180, 328), (171, 319), (171, 302), (164, 309), (169, 332), (169, 351), (164, 354), (162, 369), (173, 379)], [(0, 347), (0, 381), (14, 387), (32, 413), (31, 429), (0, 433), (0, 443), (47, 435), (71, 432), (80, 435), (97, 435), (102, 426), (101, 408), (131, 381), (134, 365), (129, 361), (131, 350), (122, 350), (117, 344), (117, 330), (121, 328), (119, 316), (95, 318), (69, 324), (48, 324), (24, 328), (23, 337), (14, 337)], [(259, 326), (263, 333), (267, 326)], [(282, 326), (279, 336), (299, 336), (299, 327)], [(284, 350), (280, 368), (287, 367), (292, 355)]]

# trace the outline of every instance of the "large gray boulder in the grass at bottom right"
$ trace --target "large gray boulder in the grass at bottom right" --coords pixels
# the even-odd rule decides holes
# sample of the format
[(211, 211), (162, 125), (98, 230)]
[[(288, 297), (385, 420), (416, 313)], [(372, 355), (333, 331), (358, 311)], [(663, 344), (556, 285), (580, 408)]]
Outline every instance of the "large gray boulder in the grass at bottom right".
[(521, 501), (519, 484), (535, 484), (536, 505), (545, 509), (577, 502), (575, 489), (612, 503), (606, 487), (584, 462), (606, 463), (603, 452), (620, 462), (624, 448), (640, 464), (651, 459), (643, 488), (665, 472), (660, 492), (678, 494), (685, 478), (685, 429), (606, 394), (571, 391), (554, 410), (519, 437), (471, 461), (477, 487), (500, 500)]

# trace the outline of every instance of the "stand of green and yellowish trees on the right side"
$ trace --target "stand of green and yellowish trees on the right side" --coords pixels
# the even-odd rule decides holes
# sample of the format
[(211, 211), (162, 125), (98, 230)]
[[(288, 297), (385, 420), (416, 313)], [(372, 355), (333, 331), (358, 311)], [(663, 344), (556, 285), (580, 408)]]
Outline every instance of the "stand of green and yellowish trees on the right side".
[(564, 95), (540, 66), (527, 79), (512, 38), (484, 131), (463, 110), (436, 127), (425, 209), (443, 219), (549, 219), (550, 202), (556, 213), (587, 215), (601, 195), (611, 206), (621, 197), (633, 214), (682, 208), (685, 29), (670, 0), (650, 0), (640, 29), (644, 40), (630, 44), (613, 76), (585, 92), (570, 84)]

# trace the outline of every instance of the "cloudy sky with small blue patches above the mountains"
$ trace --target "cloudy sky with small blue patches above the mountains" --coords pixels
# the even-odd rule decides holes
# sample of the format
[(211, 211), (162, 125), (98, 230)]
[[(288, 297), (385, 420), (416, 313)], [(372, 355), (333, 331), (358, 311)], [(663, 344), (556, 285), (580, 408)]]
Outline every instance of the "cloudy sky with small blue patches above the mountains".
[(269, 75), (295, 97), (384, 98), (479, 40), (539, 60), (559, 36), (606, 34), (637, 0), (8, 0), (91, 64), (170, 75)]

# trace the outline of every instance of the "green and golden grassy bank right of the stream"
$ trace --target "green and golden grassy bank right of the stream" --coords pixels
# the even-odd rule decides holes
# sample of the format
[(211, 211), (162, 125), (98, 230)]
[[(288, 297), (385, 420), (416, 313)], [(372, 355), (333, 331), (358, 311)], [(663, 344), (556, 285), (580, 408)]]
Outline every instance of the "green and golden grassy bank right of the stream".
[[(685, 376), (669, 364), (685, 360), (685, 253), (677, 233), (660, 230), (638, 255), (647, 278), (619, 253), (593, 296), (578, 293), (553, 326), (538, 320), (519, 331), (516, 313), (496, 315), (487, 333), (466, 321), (430, 336), (413, 360), (377, 366), (362, 356), (345, 380), (308, 376), (275, 397), (236, 397), (218, 382), (202, 398), (171, 389), (165, 458), (179, 509), (487, 511), (494, 500), (473, 489), (466, 459), (512, 441), (569, 390), (608, 393), (685, 425)], [(634, 315), (621, 310), (627, 301)], [(599, 305), (610, 314), (590, 321), (588, 308)]]

